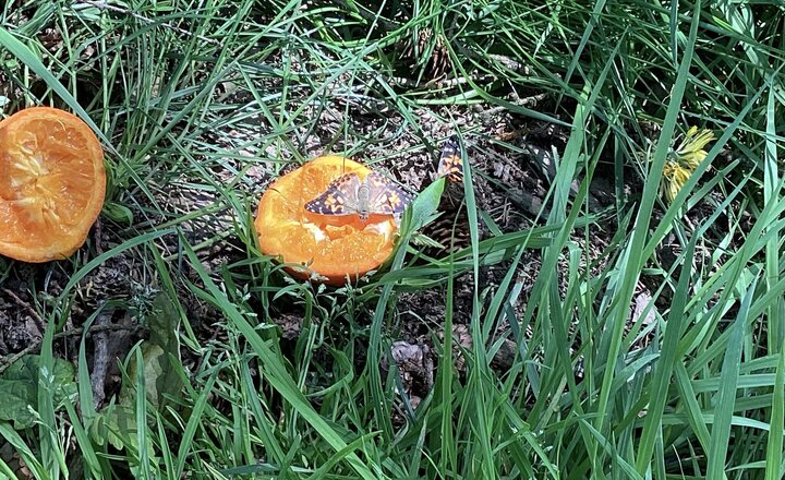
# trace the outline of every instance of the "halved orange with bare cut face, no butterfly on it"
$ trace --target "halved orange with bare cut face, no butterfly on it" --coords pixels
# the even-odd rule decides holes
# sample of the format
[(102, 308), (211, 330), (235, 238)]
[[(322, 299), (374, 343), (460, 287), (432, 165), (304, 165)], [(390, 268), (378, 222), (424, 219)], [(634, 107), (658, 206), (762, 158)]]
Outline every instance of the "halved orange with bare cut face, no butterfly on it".
[(78, 117), (49, 107), (0, 122), (0, 254), (65, 259), (104, 205), (104, 152)]

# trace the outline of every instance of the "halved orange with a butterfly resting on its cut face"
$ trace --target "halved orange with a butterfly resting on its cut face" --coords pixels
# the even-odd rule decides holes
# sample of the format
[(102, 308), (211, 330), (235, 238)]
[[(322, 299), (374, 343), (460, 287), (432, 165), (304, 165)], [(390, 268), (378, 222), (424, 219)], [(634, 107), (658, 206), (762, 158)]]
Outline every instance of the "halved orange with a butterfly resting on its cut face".
[(365, 178), (371, 169), (339, 156), (309, 161), (273, 183), (262, 195), (256, 215), (256, 232), (262, 252), (280, 255), (297, 278), (318, 274), (324, 283), (345, 285), (347, 276), (357, 279), (377, 268), (392, 253), (398, 230), (389, 215), (317, 215), (304, 208), (306, 202), (324, 192), (343, 173)]

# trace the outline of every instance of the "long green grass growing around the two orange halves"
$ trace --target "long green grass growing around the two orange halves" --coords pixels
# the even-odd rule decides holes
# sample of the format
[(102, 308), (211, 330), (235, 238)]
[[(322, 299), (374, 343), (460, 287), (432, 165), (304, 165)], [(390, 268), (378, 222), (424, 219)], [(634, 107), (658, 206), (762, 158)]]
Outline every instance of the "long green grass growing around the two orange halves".
[[(782, 478), (783, 13), (748, 2), (5, 5), (4, 111), (56, 105), (96, 130), (110, 248), (45, 267), (68, 281), (35, 297), (47, 324), (27, 379), (36, 420), (2, 415), (0, 435), (38, 479)], [(437, 55), (446, 79), (431, 81)], [(517, 194), (492, 178), (495, 158), (538, 170), (494, 136), (503, 120), (564, 134), (546, 208), (520, 231), (478, 213), (471, 188), (493, 180)], [(716, 139), (668, 204), (663, 168), (691, 125)], [(338, 152), (395, 171), (433, 158), (451, 131), (474, 165), (461, 227), (471, 247), (414, 262), (404, 235), (389, 272), (343, 289), (292, 280), (259, 253), (258, 196), (289, 166)], [(596, 212), (600, 177), (613, 202)], [(230, 260), (209, 264), (214, 248)], [(121, 257), (146, 288), (78, 316), (82, 280)], [(21, 265), (0, 267), (7, 283)], [(486, 268), (494, 284), (458, 288)], [(381, 365), (407, 332), (402, 299), (428, 289), (446, 292), (445, 314), (422, 317), (434, 385), (413, 408), (398, 370)], [(652, 300), (632, 315), (641, 290)], [(214, 315), (196, 315), (195, 299)], [(118, 311), (149, 335), (96, 409), (86, 332)], [(294, 339), (275, 325), (283, 314), (299, 316)], [(472, 343), (459, 349), (442, 333), (461, 314)], [(74, 319), (85, 334), (67, 381), (48, 372)], [(499, 370), (505, 340), (516, 357)], [(69, 399), (58, 382), (75, 383)], [(25, 478), (0, 458), (3, 476)]]

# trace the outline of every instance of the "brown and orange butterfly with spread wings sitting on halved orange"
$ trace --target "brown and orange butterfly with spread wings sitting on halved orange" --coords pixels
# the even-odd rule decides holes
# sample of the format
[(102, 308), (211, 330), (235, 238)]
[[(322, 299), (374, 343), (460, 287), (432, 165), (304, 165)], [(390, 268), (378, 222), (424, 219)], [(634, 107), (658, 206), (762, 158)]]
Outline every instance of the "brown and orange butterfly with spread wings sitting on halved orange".
[(319, 196), (307, 202), (305, 209), (321, 215), (400, 215), (412, 201), (410, 194), (382, 173), (372, 171), (364, 180), (357, 173), (345, 173), (330, 182)]

